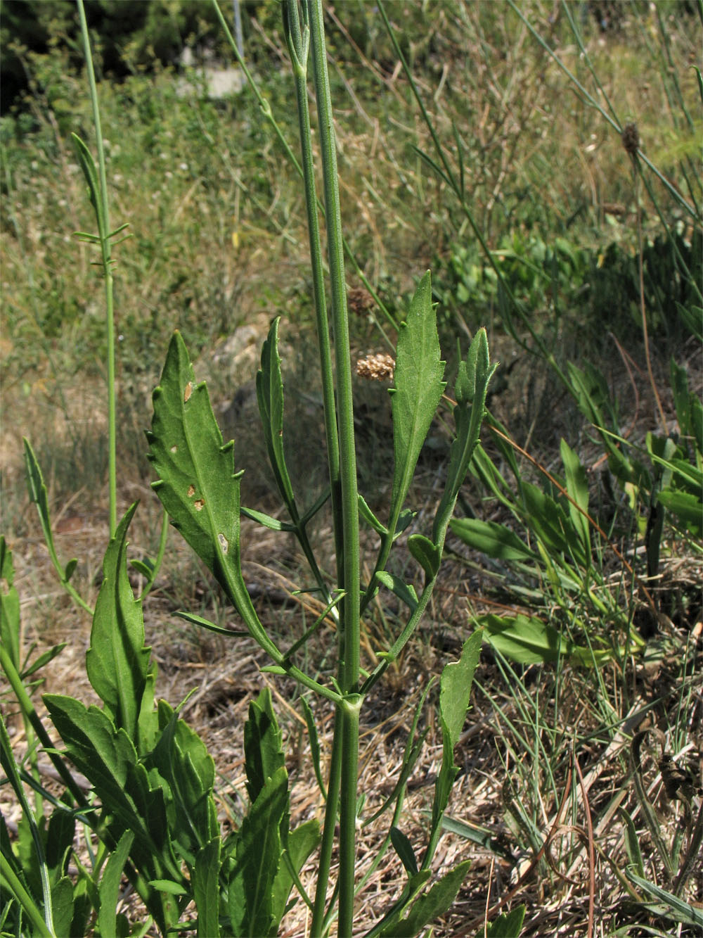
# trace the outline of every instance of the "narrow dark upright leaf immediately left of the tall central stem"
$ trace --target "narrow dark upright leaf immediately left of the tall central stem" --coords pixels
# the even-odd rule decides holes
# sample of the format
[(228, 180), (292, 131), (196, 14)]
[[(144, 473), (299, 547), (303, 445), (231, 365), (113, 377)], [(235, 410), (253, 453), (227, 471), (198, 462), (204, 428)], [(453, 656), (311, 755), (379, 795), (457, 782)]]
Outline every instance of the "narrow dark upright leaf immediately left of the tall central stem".
[(295, 519), (295, 500), (283, 453), (283, 378), (278, 356), (279, 321), (278, 317), (273, 321), (268, 339), (263, 343), (262, 367), (256, 376), (256, 397), (262, 417), (263, 438), (266, 441), (268, 459), (274, 471), (277, 489)]

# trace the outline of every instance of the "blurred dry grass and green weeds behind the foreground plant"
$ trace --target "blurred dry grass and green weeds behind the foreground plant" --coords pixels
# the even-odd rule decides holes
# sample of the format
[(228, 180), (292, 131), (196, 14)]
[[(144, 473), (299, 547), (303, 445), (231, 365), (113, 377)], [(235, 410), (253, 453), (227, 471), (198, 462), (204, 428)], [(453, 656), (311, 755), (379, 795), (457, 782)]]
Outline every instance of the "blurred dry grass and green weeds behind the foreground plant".
[[(285, 321), (287, 406), (301, 439), (321, 438), (319, 392), (309, 377), (305, 208), (296, 174), (249, 90), (222, 98), (209, 91), (204, 67), (224, 68), (230, 60), (209, 5), (96, 0), (86, 9), (102, 78), (112, 218), (115, 225), (127, 222), (130, 234), (115, 251), (121, 510), (136, 495), (144, 498), (143, 529), (133, 538), (138, 551), (149, 554), (156, 550), (158, 510), (147, 489), (141, 431), (174, 327), (213, 387), (225, 431), (235, 435), (238, 463), (247, 469), (245, 504), (268, 504), (252, 381), (275, 314)], [(354, 351), (388, 351), (394, 324), (420, 274), (431, 268), (449, 370), (457, 337), (466, 340), (486, 325), (491, 354), (501, 361), (488, 401), (500, 421), (494, 427), (531, 454), (501, 442), (498, 432), (485, 439), (486, 461), (462, 493), (466, 520), (500, 522), (524, 551), (512, 542), (512, 553), (494, 544), (486, 559), (476, 551), (470, 525), (456, 528), (445, 601), (437, 603), (425, 643), (408, 652), (393, 687), (411, 698), (408, 675), (435, 670), (471, 631), (475, 616), (486, 622), (493, 613), (507, 612), (515, 621), (523, 615), (530, 628), (541, 622), (536, 654), (525, 650), (523, 622), (516, 644), (503, 629), (502, 643), (481, 666), (477, 729), (466, 739), (466, 802), (455, 812), (471, 825), (463, 829), (469, 839), (459, 837), (456, 849), (478, 851), (476, 871), (446, 933), (467, 933), (467, 922), (483, 915), (489, 885), (501, 898), (511, 877), (517, 898), (529, 903), (530, 933), (587, 933), (590, 885), (576, 869), (584, 806), (590, 806), (604, 852), (593, 861), (603, 933), (632, 923), (666, 933), (667, 919), (645, 908), (651, 896), (637, 892), (622, 870), (634, 862), (633, 832), (645, 843), (653, 838), (634, 779), (651, 786), (648, 797), (659, 804), (658, 823), (671, 844), (685, 826), (684, 799), (674, 794), (658, 802), (657, 758), (643, 761), (639, 774), (629, 761), (632, 735), (648, 725), (642, 720), (663, 734), (659, 754), (666, 749), (685, 766), (692, 791), (701, 784), (701, 528), (695, 505), (701, 443), (694, 402), (701, 391), (701, 97), (694, 68), (701, 14), (695, 3), (665, 0), (534, 2), (519, 9), (608, 113), (622, 124), (636, 123), (641, 148), (664, 181), (649, 176), (649, 190), (637, 181), (621, 135), (514, 8), (389, 5), (400, 50), (447, 159), (461, 175), (473, 225), (490, 256), (456, 192), (423, 157), (438, 159), (379, 10), (362, 0), (329, 11), (344, 230), (358, 264), (356, 274), (349, 267), (357, 300)], [(293, 140), (278, 15), (276, 3), (245, 5), (246, 57)], [(73, 237), (90, 228), (90, 206), (69, 139), (74, 131), (91, 140), (92, 124), (69, 0), (4, 0), (2, 42), (4, 528), (14, 543), (17, 585), (27, 597), (27, 640), (74, 641), (67, 663), (58, 666), (63, 659), (57, 659), (47, 677), (57, 689), (70, 679), (69, 656), (80, 655), (89, 623), (52, 586), (29, 510), (20, 438), (35, 442), (64, 525), (61, 549), (80, 554), (76, 580), (95, 599), (106, 532), (105, 337), (101, 284), (91, 266), (96, 258)], [(192, 67), (179, 64), (186, 48), (193, 50)], [(506, 305), (499, 277), (529, 310), (530, 328)], [(581, 385), (573, 366), (585, 376)], [(381, 503), (388, 493), (374, 492), (373, 480), (387, 476), (380, 468), (392, 459), (390, 408), (381, 386), (359, 381), (357, 395), (360, 471), (366, 492)], [(593, 429), (599, 423), (617, 436), (615, 443)], [(676, 451), (665, 449), (667, 438)], [(559, 541), (539, 523), (542, 511), (547, 521), (560, 519), (561, 537), (568, 528), (557, 510), (570, 510), (559, 489), (569, 476), (561, 439), (578, 454), (592, 520), (605, 532), (601, 539), (591, 525), (580, 555), (569, 537)], [(438, 423), (417, 492), (428, 507), (447, 440)], [(623, 468), (619, 453), (630, 468)], [(318, 457), (314, 442), (291, 453), (292, 467), (310, 489), (320, 482)], [(671, 482), (658, 474), (657, 459), (668, 463), (666, 472), (676, 469), (676, 460), (690, 465), (688, 488), (681, 480), (677, 485), (676, 475)], [(675, 494), (693, 492), (694, 502), (677, 510), (681, 503), (669, 499), (666, 521), (653, 536), (652, 507), (664, 505), (657, 498), (667, 486)], [(329, 538), (324, 523), (316, 537), (322, 543)], [(272, 544), (260, 537), (247, 553), (248, 581), (275, 609), (275, 628), (293, 628), (306, 614), (290, 596), (299, 558)], [(216, 621), (227, 614), (202, 570), (179, 551), (179, 545), (169, 550), (147, 619), (165, 694), (170, 682), (197, 674), (193, 662), (212, 665), (222, 654), (216, 641), (196, 640), (174, 626), (172, 610), (200, 608)], [(651, 601), (643, 602), (639, 587), (648, 575), (656, 579), (646, 587)], [(379, 605), (367, 625), (369, 644), (390, 633), (392, 615), (391, 607)], [(554, 646), (555, 635), (568, 644), (558, 643), (550, 660), (545, 648)], [(606, 654), (584, 664), (585, 653), (576, 648)], [(208, 742), (220, 750), (226, 773), (237, 758), (224, 742), (228, 719), (258, 678), (252, 665), (234, 687), (232, 662), (221, 664), (221, 672), (210, 668), (192, 718), (212, 736)], [(172, 703), (181, 696), (179, 690)], [(382, 701), (379, 719), (381, 713)], [(292, 718), (292, 736), (296, 725)], [(389, 729), (389, 751), (394, 733), (397, 726)], [(589, 784), (579, 786), (572, 752)], [(301, 784), (314, 785), (304, 766)], [(420, 798), (418, 825), (422, 809)], [(694, 835), (690, 829), (684, 840)], [(664, 861), (642, 849), (649, 853), (637, 869), (656, 882)], [(696, 882), (689, 899), (700, 902), (700, 877)]]

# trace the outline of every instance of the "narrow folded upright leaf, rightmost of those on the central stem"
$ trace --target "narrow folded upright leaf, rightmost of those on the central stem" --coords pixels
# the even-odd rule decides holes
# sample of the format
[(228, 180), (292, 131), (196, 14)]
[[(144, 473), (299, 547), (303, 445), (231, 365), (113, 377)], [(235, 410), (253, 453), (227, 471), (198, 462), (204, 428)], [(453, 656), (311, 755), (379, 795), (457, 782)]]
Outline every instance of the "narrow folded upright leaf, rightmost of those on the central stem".
[(454, 512), (459, 487), (469, 471), (473, 450), (478, 444), (481, 422), (486, 411), (488, 382), (496, 367), (495, 364), (491, 365), (488, 359), (486, 329), (479, 329), (473, 337), (466, 361), (459, 362), (456, 373), (456, 438), (449, 450), (446, 487), (432, 527), (432, 540), (440, 549)]

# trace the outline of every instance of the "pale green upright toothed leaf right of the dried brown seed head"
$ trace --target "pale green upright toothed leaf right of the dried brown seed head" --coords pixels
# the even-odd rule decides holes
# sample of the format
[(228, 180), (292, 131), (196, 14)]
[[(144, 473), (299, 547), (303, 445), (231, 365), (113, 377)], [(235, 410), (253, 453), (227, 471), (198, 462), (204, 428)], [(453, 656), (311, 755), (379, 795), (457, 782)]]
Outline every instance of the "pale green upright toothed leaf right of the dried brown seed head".
[(393, 395), (395, 467), (391, 518), (396, 519), (408, 494), (417, 458), (425, 443), (445, 384), (441, 380), (437, 317), (432, 308), (429, 271), (412, 297), (408, 318), (400, 326), (396, 347)]

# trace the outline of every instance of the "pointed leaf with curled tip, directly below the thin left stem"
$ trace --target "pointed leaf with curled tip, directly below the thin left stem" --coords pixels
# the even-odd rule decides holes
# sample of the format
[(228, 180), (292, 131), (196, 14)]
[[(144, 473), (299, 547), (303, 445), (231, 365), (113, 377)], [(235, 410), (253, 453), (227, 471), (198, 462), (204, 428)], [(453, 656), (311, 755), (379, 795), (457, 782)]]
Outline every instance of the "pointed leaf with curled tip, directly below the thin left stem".
[[(144, 645), (142, 603), (127, 577), (127, 528), (137, 506), (119, 523), (102, 562), (104, 579), (97, 596), (85, 670), (115, 727), (137, 738), (142, 696), (149, 673), (150, 648)], [(151, 702), (150, 702), (151, 703)]]

